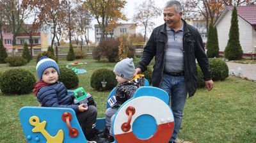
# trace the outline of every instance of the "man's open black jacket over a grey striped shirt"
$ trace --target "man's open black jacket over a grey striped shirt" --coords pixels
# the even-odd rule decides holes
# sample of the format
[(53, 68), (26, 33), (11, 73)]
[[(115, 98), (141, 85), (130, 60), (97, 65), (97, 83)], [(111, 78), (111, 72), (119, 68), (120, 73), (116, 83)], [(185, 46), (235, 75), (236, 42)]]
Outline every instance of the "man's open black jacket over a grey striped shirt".
[[(195, 60), (197, 60), (204, 73), (204, 80), (211, 80), (211, 70), (209, 67), (209, 60), (205, 54), (203, 41), (198, 30), (187, 24), (183, 19), (182, 21), (184, 24), (183, 50), (185, 80), (189, 96), (193, 96), (196, 92), (197, 82)], [(156, 27), (153, 30), (147, 45), (144, 47), (143, 55), (138, 63), (138, 68), (141, 69), (141, 72), (144, 72), (147, 70), (147, 65), (155, 56), (154, 70), (152, 73), (152, 84), (155, 87), (159, 87), (162, 81), (167, 40), (166, 24)]]

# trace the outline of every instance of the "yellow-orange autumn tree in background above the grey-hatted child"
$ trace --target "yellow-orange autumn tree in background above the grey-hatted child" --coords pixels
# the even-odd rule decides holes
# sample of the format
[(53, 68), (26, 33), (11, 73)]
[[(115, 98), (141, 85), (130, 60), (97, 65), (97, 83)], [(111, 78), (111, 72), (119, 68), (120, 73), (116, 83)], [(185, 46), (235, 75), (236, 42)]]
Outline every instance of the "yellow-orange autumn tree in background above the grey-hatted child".
[(126, 1), (116, 0), (86, 0), (84, 8), (87, 8), (95, 17), (101, 30), (101, 39), (105, 40), (106, 32), (111, 31), (118, 20), (127, 20), (121, 10)]

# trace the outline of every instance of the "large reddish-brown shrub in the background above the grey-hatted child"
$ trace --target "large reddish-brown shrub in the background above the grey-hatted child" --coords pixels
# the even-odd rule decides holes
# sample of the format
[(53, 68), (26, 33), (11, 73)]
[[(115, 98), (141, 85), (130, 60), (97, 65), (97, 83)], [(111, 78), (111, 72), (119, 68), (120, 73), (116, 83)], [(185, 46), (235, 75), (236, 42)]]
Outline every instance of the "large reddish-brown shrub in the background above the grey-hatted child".
[(108, 59), (109, 62), (115, 62), (118, 59), (118, 46), (120, 41), (115, 38), (106, 38), (105, 41), (100, 41), (98, 47), (100, 54)]

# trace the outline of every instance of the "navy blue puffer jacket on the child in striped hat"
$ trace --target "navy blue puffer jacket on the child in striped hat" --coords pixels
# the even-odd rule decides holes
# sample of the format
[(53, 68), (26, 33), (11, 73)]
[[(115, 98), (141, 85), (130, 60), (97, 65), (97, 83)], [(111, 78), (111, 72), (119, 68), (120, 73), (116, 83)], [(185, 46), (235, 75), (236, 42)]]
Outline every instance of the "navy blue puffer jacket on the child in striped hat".
[(78, 105), (73, 104), (74, 98), (72, 94), (67, 94), (67, 88), (62, 82), (42, 87), (36, 97), (44, 107), (71, 108), (78, 112)]

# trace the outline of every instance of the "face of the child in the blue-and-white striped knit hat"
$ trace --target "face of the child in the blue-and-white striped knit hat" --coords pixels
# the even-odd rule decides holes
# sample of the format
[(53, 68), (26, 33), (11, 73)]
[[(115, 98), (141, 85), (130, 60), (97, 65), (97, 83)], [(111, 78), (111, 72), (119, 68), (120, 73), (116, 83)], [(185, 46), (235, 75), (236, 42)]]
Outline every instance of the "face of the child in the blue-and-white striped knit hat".
[(47, 84), (54, 84), (58, 81), (58, 72), (55, 70), (55, 68), (47, 68), (44, 70), (42, 80)]

